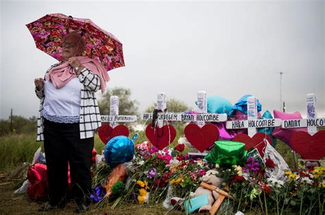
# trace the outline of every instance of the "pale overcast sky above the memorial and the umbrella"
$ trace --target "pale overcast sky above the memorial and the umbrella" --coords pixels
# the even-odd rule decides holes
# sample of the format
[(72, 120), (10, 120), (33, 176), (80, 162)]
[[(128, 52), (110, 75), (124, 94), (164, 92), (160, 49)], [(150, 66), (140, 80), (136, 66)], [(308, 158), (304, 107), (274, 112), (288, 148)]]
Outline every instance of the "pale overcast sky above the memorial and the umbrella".
[(1, 1), (1, 119), (38, 113), (34, 78), (56, 59), (25, 24), (51, 13), (91, 18), (122, 42), (126, 66), (106, 89), (130, 88), (140, 112), (158, 92), (194, 108), (200, 90), (232, 104), (252, 94), (273, 112), (284, 72), (286, 111), (306, 115), (315, 93), (325, 117), (324, 1)]

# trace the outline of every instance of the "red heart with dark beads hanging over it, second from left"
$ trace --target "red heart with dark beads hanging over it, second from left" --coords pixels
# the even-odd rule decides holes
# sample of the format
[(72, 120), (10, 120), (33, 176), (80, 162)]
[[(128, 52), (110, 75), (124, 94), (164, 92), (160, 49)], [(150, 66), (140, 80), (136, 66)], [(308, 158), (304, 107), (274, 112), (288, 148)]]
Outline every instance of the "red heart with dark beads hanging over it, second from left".
[(165, 125), (162, 128), (158, 128), (158, 126), (152, 128), (152, 125), (148, 124), (147, 128), (145, 128), (145, 135), (147, 135), (152, 145), (161, 150), (173, 142), (176, 137), (176, 130), (171, 124)]

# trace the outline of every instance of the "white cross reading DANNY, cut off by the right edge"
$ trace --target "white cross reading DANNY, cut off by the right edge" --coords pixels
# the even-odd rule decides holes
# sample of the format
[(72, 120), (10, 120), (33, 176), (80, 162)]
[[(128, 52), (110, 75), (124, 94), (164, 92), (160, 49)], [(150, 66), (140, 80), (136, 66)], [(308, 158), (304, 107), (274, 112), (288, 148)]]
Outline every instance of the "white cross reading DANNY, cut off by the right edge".
[(317, 118), (315, 94), (307, 94), (307, 119), (282, 120), (282, 128), (307, 128), (309, 134), (317, 132), (317, 127), (325, 126), (325, 118)]

